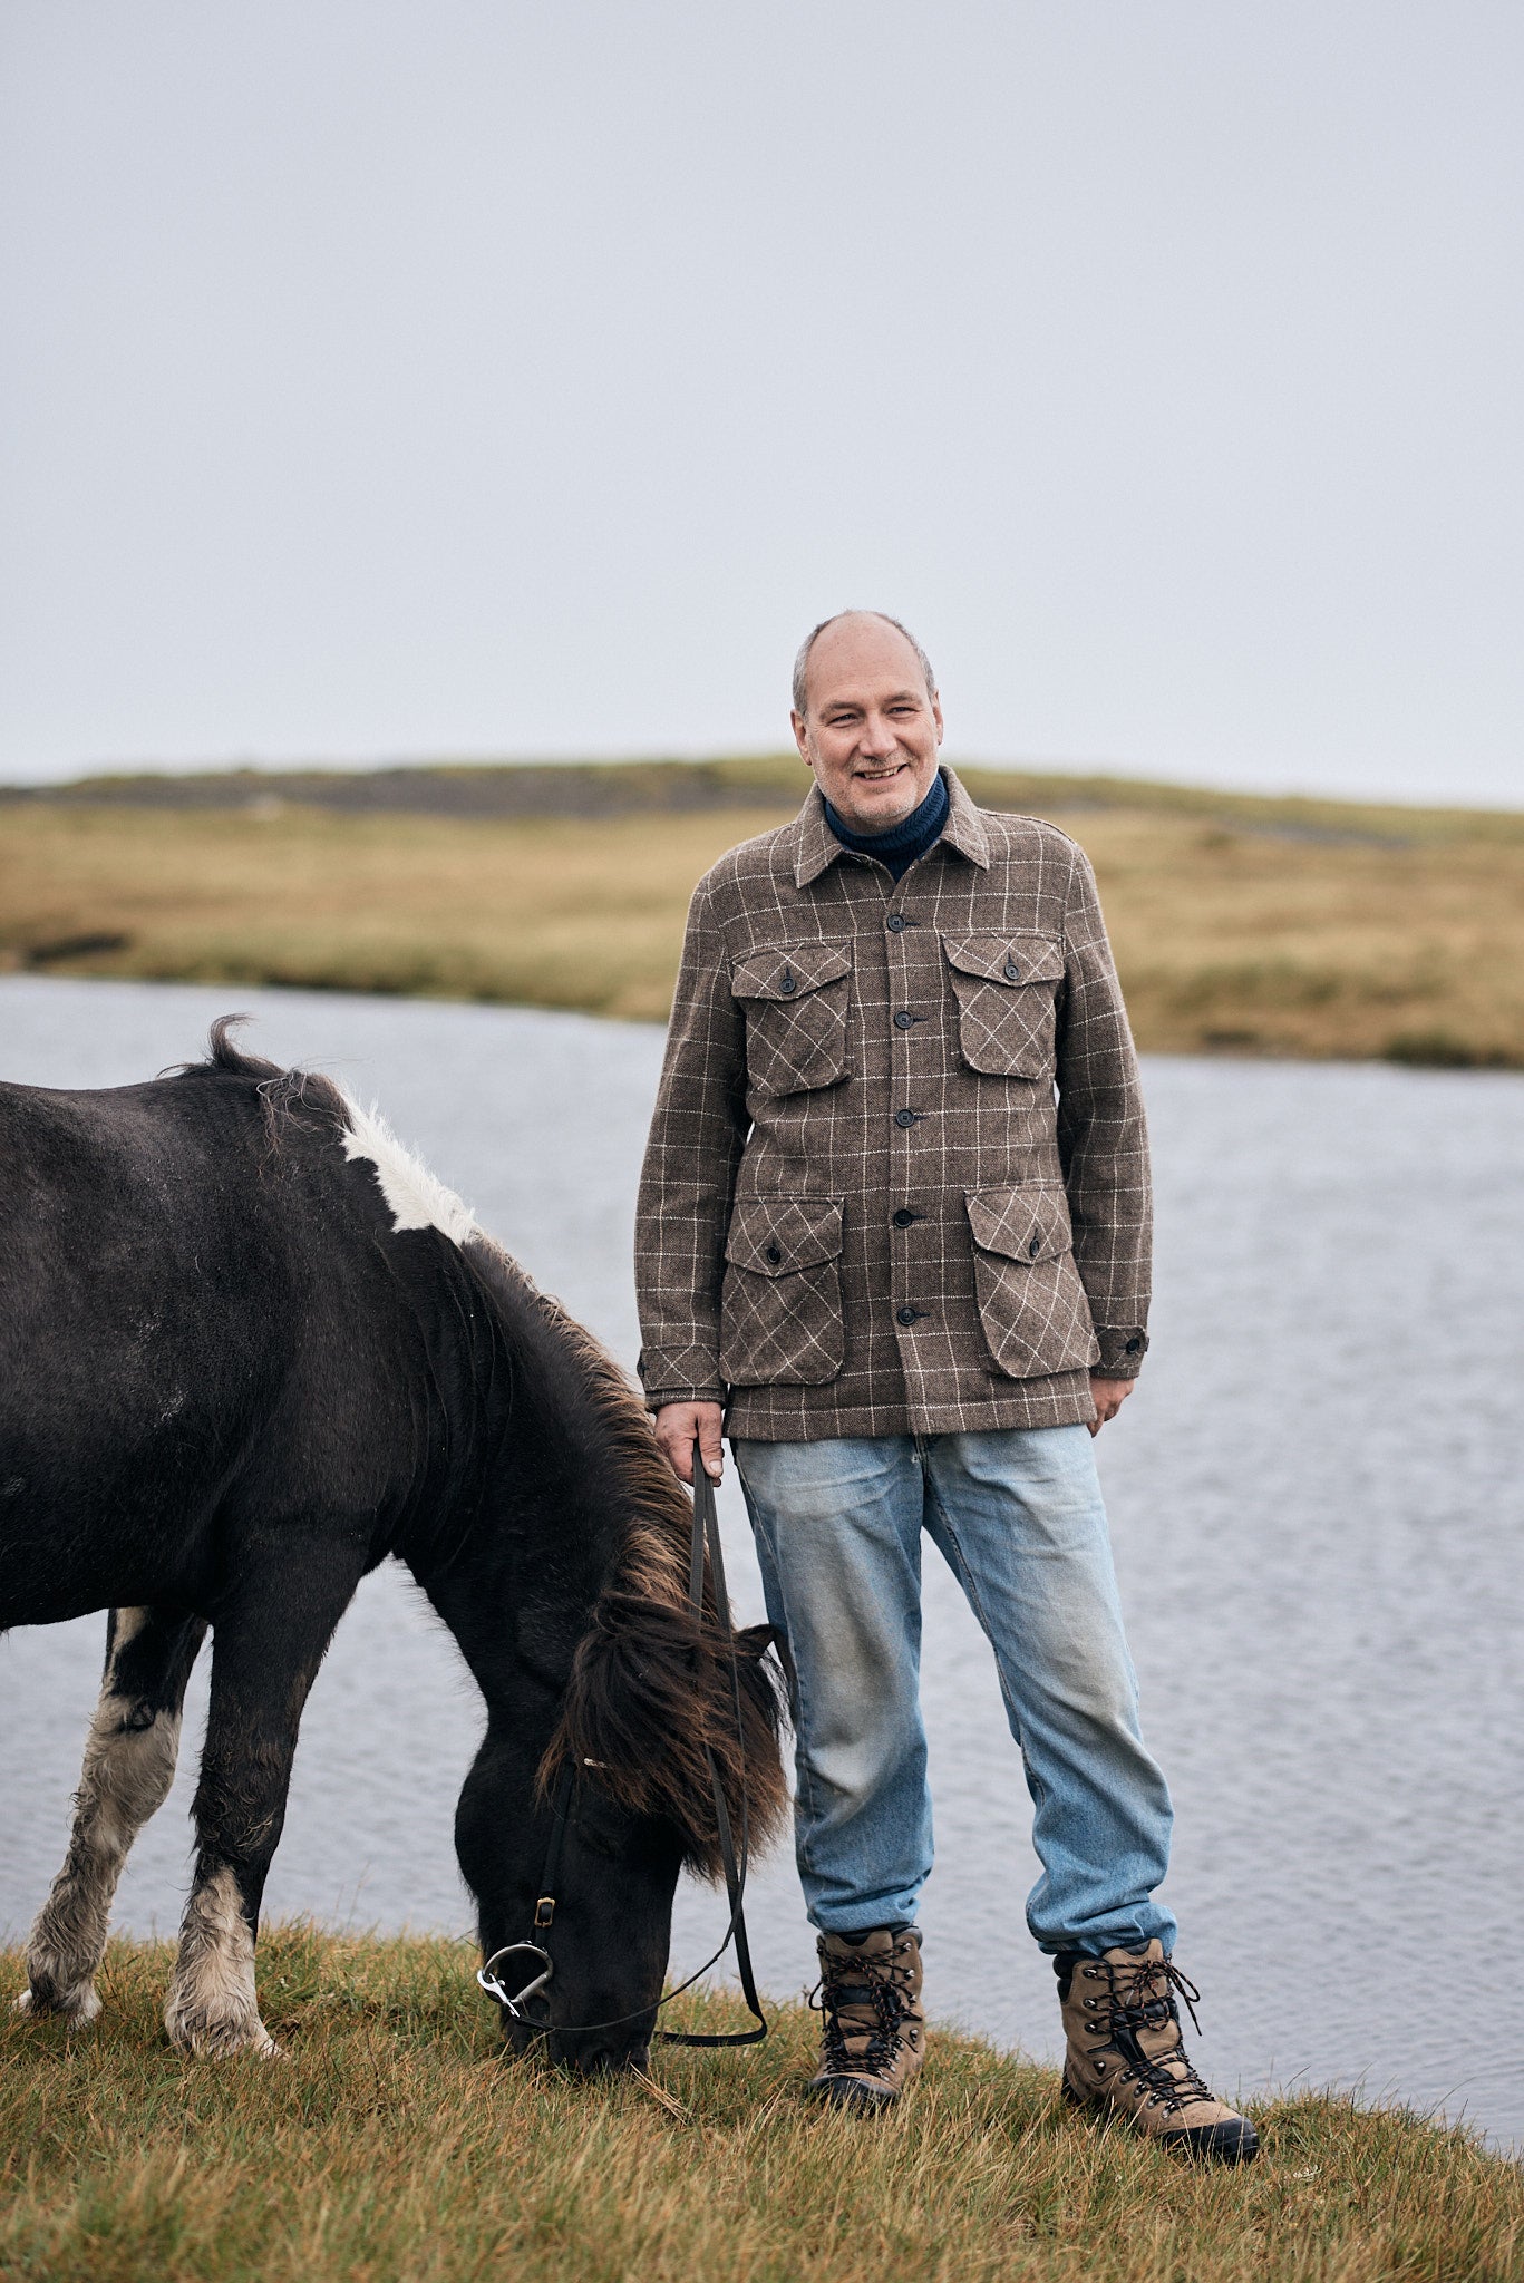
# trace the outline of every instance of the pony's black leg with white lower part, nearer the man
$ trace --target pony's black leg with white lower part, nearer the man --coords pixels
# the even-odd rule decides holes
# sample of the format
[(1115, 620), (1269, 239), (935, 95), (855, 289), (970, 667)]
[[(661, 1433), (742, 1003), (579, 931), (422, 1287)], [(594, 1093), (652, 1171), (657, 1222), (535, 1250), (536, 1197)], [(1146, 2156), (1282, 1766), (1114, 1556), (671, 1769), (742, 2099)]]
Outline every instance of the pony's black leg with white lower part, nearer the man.
[(270, 1861), (286, 1822), (297, 1728), (334, 1625), (359, 1584), (267, 1562), (265, 1582), (212, 1635), (212, 1701), (201, 1753), (196, 1872), (165, 2027), (185, 2052), (274, 2055), (258, 2014), (254, 1941)]

